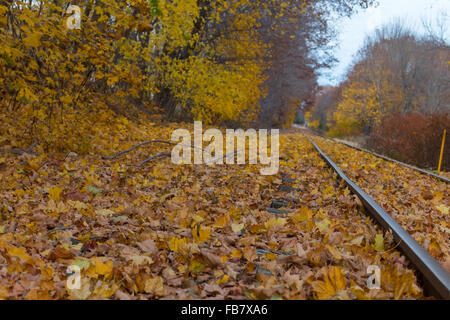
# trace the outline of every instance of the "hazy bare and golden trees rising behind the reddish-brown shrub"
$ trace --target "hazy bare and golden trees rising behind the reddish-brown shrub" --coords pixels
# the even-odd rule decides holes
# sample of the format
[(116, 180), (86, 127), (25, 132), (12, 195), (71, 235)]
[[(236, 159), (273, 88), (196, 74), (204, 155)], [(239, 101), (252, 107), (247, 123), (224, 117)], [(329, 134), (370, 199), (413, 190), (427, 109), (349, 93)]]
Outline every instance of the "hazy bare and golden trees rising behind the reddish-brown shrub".
[(328, 119), (331, 134), (369, 134), (391, 114), (449, 112), (449, 62), (450, 47), (433, 37), (419, 37), (399, 22), (377, 30), (341, 84)]

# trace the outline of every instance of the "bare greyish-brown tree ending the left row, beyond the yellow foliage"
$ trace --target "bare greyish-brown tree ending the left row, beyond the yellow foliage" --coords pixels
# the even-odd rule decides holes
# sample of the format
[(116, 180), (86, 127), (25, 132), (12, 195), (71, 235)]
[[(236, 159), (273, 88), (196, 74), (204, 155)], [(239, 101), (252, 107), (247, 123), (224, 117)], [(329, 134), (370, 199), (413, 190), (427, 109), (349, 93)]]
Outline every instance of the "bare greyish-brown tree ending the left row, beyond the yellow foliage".
[[(301, 7), (298, 4), (302, 4)], [(270, 44), (265, 55), (267, 90), (261, 99), (259, 121), (266, 126), (290, 126), (300, 106), (313, 104), (317, 86), (317, 71), (334, 62), (330, 45), (335, 30), (330, 26), (334, 18), (353, 13), (356, 7), (367, 7), (373, 1), (284, 1), (287, 14), (278, 18), (275, 30), (273, 17), (262, 20), (261, 34)]]

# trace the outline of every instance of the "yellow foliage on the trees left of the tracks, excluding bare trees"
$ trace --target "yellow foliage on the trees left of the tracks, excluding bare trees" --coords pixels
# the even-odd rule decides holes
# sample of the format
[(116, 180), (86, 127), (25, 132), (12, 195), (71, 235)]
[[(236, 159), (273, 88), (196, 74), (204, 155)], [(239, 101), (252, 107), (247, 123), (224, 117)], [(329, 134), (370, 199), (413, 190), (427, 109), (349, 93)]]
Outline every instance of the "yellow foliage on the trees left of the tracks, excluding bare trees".
[[(117, 113), (159, 112), (165, 90), (178, 111), (207, 123), (255, 119), (268, 49), (258, 18), (267, 7), (79, 1), (81, 29), (71, 30), (58, 3), (0, 5), (0, 135), (20, 136), (13, 144), (38, 138), (45, 151), (92, 152), (106, 127), (126, 128)], [(208, 35), (224, 16), (230, 30)]]

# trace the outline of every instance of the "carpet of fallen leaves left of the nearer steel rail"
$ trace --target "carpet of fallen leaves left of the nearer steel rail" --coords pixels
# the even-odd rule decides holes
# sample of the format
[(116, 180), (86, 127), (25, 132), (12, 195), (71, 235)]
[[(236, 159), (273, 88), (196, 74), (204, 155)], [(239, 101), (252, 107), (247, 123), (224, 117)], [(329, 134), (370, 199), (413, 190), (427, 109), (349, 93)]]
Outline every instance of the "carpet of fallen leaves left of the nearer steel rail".
[[(171, 132), (147, 129), (147, 139)], [(112, 154), (141, 141), (103, 143)], [(128, 166), (164, 148), (0, 158), (0, 298), (424, 298), (392, 236), (303, 136), (281, 137), (277, 176), (170, 159)], [(78, 290), (66, 288), (70, 265)], [(369, 265), (381, 290), (366, 287)]]

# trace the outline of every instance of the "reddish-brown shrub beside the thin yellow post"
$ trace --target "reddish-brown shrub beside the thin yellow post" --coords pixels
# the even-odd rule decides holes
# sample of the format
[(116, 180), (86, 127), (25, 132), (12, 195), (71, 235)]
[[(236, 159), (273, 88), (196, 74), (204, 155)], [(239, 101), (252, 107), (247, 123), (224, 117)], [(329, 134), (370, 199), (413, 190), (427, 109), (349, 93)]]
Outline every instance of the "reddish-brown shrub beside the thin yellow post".
[[(410, 113), (386, 117), (372, 130), (368, 147), (396, 160), (436, 169), (444, 129), (450, 131), (450, 113)], [(450, 135), (447, 134), (442, 170), (450, 171)]]

